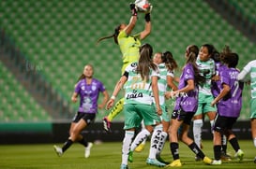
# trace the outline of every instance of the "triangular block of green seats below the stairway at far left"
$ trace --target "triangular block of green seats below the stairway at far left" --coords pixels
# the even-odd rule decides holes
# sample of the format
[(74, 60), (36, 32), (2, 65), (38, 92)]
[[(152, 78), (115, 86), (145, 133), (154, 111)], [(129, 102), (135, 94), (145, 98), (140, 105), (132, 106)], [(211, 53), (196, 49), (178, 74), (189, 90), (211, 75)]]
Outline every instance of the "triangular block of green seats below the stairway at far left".
[[(10, 121), (30, 121), (32, 120), (28, 116), (27, 112), (29, 110), (35, 110), (35, 106), (38, 107), (37, 111), (33, 111), (35, 116), (45, 113), (48, 117), (48, 113), (38, 106), (38, 103), (31, 97), (31, 95), (26, 92), (13, 75), (8, 72), (7, 67), (3, 63), (0, 63), (1, 70), (1, 112), (0, 122), (10, 122)], [(50, 120), (50, 118), (43, 120)]]

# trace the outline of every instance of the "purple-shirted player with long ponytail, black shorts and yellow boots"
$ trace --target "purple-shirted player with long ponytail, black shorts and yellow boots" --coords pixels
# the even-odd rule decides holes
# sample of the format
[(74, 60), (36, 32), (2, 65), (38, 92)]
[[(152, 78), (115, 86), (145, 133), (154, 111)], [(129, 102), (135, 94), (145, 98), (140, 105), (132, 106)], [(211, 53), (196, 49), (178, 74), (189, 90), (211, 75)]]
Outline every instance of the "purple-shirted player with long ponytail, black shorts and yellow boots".
[(171, 126), (169, 128), (170, 148), (173, 155), (173, 162), (168, 166), (171, 167), (182, 166), (178, 153), (179, 144), (177, 138), (178, 129), (180, 127), (182, 130), (179, 133), (179, 136), (182, 142), (184, 142), (198, 157), (203, 159), (204, 163), (210, 164), (212, 162), (211, 159), (203, 154), (203, 151), (195, 144), (195, 142), (188, 137), (190, 122), (198, 106), (198, 85), (205, 81), (205, 79), (200, 76), (196, 65), (198, 52), (199, 49), (197, 46), (188, 46), (185, 55), (187, 63), (183, 68), (178, 90), (175, 92), (166, 92), (167, 98), (171, 96), (177, 97), (172, 114)]

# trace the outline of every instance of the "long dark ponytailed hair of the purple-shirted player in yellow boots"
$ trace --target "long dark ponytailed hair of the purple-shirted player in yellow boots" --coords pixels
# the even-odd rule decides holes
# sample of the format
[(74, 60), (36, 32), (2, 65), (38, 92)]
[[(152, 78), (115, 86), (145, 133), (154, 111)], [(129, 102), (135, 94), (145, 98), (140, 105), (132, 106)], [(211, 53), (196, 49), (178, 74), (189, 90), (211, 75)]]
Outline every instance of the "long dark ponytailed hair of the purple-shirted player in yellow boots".
[(188, 52), (187, 63), (191, 63), (193, 66), (193, 70), (195, 73), (195, 83), (199, 85), (203, 85), (203, 83), (205, 83), (205, 78), (200, 75), (197, 64), (196, 64), (199, 48), (196, 45), (189, 45), (187, 52)]

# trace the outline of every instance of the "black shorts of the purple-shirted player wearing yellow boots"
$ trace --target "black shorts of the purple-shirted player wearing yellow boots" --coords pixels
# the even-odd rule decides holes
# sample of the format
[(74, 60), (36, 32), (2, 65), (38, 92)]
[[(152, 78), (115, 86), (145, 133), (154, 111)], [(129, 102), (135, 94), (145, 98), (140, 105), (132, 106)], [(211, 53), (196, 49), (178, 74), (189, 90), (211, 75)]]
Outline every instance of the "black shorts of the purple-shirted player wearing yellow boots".
[(172, 119), (183, 120), (183, 123), (190, 125), (195, 112), (186, 112), (182, 109), (173, 110)]

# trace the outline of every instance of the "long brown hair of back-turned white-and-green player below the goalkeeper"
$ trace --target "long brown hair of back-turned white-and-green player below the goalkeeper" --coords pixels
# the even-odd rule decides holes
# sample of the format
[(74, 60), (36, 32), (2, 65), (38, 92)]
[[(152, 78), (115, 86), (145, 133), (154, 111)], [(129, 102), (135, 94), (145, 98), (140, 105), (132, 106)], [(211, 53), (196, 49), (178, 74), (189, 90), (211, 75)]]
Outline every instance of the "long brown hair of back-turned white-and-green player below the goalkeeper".
[(143, 44), (140, 47), (140, 58), (137, 66), (137, 73), (146, 81), (149, 79), (150, 68), (158, 70), (158, 65), (152, 60), (153, 48), (149, 44)]

